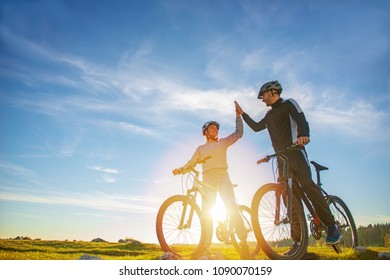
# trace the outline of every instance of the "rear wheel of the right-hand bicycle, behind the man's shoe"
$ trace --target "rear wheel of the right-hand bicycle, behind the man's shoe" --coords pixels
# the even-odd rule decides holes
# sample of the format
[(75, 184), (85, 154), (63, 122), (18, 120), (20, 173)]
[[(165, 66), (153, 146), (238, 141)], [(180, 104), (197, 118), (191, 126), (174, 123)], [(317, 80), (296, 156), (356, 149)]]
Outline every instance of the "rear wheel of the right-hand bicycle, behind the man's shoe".
[[(358, 234), (355, 221), (347, 204), (338, 196), (327, 196), (330, 211), (335, 219), (336, 225), (343, 238), (337, 245), (332, 245), (337, 253), (341, 253), (348, 248), (355, 248), (358, 245)], [(341, 212), (340, 212), (341, 211)]]

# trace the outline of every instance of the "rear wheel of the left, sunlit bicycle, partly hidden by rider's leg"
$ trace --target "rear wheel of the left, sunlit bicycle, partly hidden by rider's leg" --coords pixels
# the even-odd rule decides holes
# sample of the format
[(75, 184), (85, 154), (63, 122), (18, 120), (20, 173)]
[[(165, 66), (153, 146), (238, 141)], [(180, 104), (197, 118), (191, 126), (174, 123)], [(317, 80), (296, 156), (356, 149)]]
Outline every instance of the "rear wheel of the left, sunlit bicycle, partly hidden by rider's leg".
[[(253, 258), (257, 256), (257, 254), (260, 252), (261, 247), (253, 231), (252, 211), (248, 206), (245, 205), (239, 205), (239, 208), (241, 212), (240, 214), (244, 220), (245, 228), (247, 229), (248, 235), (246, 241), (249, 246), (249, 254), (250, 257)], [(237, 250), (237, 252), (241, 252), (240, 239), (236, 236), (234, 227), (230, 222), (229, 222), (229, 232), (230, 232), (230, 238), (232, 240), (234, 248)]]

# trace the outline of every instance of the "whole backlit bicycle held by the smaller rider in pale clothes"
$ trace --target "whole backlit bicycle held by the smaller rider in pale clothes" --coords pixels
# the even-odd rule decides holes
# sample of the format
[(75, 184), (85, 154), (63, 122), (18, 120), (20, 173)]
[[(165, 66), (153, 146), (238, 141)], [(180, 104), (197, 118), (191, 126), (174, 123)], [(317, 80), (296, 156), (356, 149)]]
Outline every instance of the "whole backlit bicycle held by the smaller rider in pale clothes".
[[(202, 161), (205, 161), (205, 159)], [(202, 163), (202, 161), (198, 161), (197, 164)], [(160, 206), (156, 218), (156, 232), (161, 248), (164, 251), (190, 259), (198, 259), (204, 250), (211, 245), (211, 239), (209, 238), (212, 238), (214, 228), (211, 228), (211, 223), (209, 223), (209, 218), (211, 218), (209, 213), (202, 211), (200, 204), (203, 204), (202, 206), (212, 206), (210, 203), (212, 201), (208, 197), (208, 189), (217, 192), (216, 187), (203, 182), (199, 178), (199, 172), (194, 167), (195, 165), (181, 169), (179, 172), (173, 172), (174, 175), (189, 173), (182, 181), (183, 192), (167, 198)], [(201, 197), (198, 196), (198, 193), (200, 193)], [(202, 198), (201, 202), (200, 198)], [(251, 210), (245, 205), (238, 205), (237, 201), (235, 204), (243, 218), (244, 224), (241, 227), (240, 221), (236, 223), (236, 219), (231, 217), (230, 210), (233, 209), (227, 209), (226, 223), (224, 225), (228, 226), (226, 226), (226, 233), (225, 231), (223, 233), (228, 238), (225, 238), (225, 240), (229, 239), (231, 241), (241, 257), (247, 256), (246, 251), (244, 251), (245, 254), (242, 253), (242, 244), (247, 245), (248, 253), (255, 256), (260, 250), (260, 245), (254, 235), (251, 223)], [(242, 243), (244, 230), (247, 231), (246, 237), (250, 241), (247, 244)], [(186, 246), (183, 247), (183, 245)]]

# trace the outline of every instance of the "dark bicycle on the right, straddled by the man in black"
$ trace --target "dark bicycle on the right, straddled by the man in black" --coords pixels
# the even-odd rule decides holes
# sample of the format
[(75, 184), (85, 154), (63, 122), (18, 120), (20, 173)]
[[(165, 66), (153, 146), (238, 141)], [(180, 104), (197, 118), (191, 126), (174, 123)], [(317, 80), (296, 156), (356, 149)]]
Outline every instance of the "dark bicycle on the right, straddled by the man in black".
[[(315, 209), (303, 192), (299, 183), (289, 173), (288, 154), (301, 149), (299, 145), (291, 145), (286, 149), (268, 155), (257, 161), (257, 164), (277, 158), (282, 163), (282, 176), (278, 183), (269, 183), (260, 187), (252, 199), (252, 225), (264, 253), (270, 259), (288, 260), (302, 259), (306, 254), (309, 241), (309, 230), (305, 219), (310, 222), (310, 232), (314, 239), (325, 237), (326, 226), (320, 221)], [(351, 211), (338, 196), (329, 195), (322, 188), (320, 172), (328, 168), (314, 161), (317, 174), (317, 185), (328, 203), (336, 225), (343, 238), (337, 245), (332, 245), (337, 253), (347, 248), (354, 248), (358, 243), (356, 225)]]

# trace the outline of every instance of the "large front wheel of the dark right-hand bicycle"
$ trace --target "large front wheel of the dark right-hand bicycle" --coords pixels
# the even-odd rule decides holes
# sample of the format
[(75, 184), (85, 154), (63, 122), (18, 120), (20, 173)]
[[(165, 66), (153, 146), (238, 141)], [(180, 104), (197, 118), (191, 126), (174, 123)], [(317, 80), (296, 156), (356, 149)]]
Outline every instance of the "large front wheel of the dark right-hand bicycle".
[[(296, 217), (294, 225), (291, 222), (275, 223), (276, 200), (280, 198), (280, 217), (287, 217), (287, 208), (283, 197), (287, 193), (286, 187), (281, 184), (266, 184), (260, 187), (252, 199), (252, 225), (255, 236), (264, 253), (274, 260), (302, 259), (308, 246), (308, 229), (302, 204), (293, 196), (292, 211)], [(279, 219), (281, 221), (281, 219)], [(295, 230), (299, 242), (295, 250), (291, 250), (294, 240), (291, 238), (291, 229)]]

